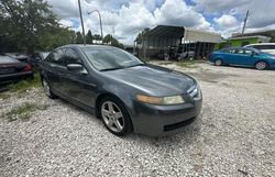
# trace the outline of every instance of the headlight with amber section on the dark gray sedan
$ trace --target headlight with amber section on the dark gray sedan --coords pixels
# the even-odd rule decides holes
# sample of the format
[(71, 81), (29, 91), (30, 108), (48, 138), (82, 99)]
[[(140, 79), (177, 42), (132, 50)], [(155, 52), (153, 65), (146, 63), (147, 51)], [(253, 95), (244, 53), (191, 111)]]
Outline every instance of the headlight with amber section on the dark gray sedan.
[(152, 104), (170, 106), (185, 102), (182, 96), (151, 97), (151, 96), (136, 95), (136, 98), (141, 102), (146, 102)]

